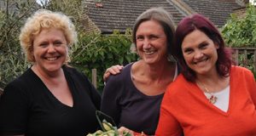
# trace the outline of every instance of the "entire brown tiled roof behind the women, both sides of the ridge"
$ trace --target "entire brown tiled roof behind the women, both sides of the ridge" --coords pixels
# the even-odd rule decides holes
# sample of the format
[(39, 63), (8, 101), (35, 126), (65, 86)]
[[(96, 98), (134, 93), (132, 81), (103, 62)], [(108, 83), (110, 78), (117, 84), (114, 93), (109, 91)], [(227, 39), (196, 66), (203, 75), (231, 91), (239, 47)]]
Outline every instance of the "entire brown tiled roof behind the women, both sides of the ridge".
[(152, 7), (165, 8), (172, 14), (175, 24), (188, 15), (187, 11), (191, 10), (185, 8), (189, 7), (207, 16), (216, 26), (224, 26), (232, 9), (241, 7), (235, 0), (102, 0), (99, 7), (96, 0), (84, 0), (83, 3), (89, 19), (102, 33), (132, 28), (137, 16)]

